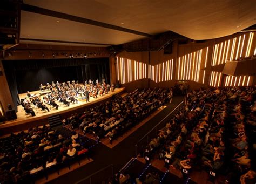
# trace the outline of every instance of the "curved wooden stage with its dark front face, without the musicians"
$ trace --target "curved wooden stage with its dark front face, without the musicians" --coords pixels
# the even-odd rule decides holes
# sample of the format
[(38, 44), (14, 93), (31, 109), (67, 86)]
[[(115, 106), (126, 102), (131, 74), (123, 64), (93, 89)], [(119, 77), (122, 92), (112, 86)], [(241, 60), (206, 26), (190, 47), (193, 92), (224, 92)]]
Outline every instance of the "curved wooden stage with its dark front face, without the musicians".
[[(36, 116), (32, 117), (31, 114), (26, 115), (25, 110), (21, 105), (18, 106), (17, 119), (12, 121), (5, 121), (4, 124), (0, 125), (0, 135), (9, 134), (10, 132), (18, 132), (22, 130), (26, 130), (30, 127), (34, 127), (36, 125), (41, 126), (48, 124), (48, 118), (53, 115), (60, 115), (60, 118), (69, 117), (72, 113), (80, 113), (83, 112), (84, 107), (90, 107), (93, 104), (104, 102), (110, 99), (115, 94), (121, 94), (124, 92), (125, 88), (116, 88), (113, 92), (109, 92), (108, 94), (104, 94), (104, 96), (98, 96), (97, 98), (90, 97), (90, 102), (86, 103), (84, 100), (79, 100), (78, 104), (70, 103), (70, 106), (63, 105), (63, 103), (58, 103), (58, 110), (56, 108), (51, 107), (50, 112), (43, 111), (41, 109), (35, 109)], [(39, 94), (42, 91), (33, 91), (31, 94)], [(24, 99), (26, 97), (26, 93), (19, 94), (19, 97)], [(49, 106), (48, 106), (49, 107)]]

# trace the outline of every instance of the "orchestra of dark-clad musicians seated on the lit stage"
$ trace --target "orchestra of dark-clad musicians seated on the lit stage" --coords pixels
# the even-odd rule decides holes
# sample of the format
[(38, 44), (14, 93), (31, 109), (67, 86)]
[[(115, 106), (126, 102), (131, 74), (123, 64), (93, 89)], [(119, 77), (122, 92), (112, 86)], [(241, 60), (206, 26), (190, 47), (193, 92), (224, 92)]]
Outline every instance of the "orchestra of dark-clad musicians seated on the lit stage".
[[(110, 85), (106, 84), (104, 79), (101, 82), (98, 79), (96, 81), (89, 79), (84, 84), (78, 84), (78, 81), (75, 82), (75, 80), (67, 81), (66, 83), (52, 81), (51, 84), (40, 84), (39, 90), (41, 90), (39, 94), (30, 94), (28, 91), (27, 97), (22, 99), (21, 104), (27, 114), (36, 115), (33, 109), (37, 112), (37, 108), (49, 112), (50, 106), (57, 110), (59, 103), (63, 103), (66, 106), (70, 106), (71, 103), (77, 104), (79, 98), (90, 102), (90, 97), (97, 98), (98, 95), (103, 96), (104, 93), (109, 93)], [(111, 91), (113, 92), (113, 87)]]

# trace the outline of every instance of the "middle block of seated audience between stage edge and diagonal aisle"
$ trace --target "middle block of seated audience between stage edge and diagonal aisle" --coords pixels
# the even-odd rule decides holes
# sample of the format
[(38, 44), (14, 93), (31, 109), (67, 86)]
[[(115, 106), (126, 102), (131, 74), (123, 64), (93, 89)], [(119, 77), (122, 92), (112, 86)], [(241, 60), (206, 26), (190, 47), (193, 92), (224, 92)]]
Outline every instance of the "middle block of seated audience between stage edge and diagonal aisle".
[(80, 128), (84, 133), (94, 134), (95, 137), (107, 137), (112, 142), (171, 98), (172, 91), (167, 88), (137, 89), (124, 98), (116, 96), (82, 114), (71, 115), (63, 122), (71, 124), (73, 129)]

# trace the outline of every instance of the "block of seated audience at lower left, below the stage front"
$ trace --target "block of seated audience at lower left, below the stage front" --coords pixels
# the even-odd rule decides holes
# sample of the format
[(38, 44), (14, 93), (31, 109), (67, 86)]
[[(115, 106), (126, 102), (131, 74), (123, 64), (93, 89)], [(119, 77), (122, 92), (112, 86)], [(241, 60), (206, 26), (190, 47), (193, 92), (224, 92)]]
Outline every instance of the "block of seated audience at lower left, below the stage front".
[(90, 139), (64, 128), (30, 128), (0, 140), (1, 182), (36, 181), (88, 157)]

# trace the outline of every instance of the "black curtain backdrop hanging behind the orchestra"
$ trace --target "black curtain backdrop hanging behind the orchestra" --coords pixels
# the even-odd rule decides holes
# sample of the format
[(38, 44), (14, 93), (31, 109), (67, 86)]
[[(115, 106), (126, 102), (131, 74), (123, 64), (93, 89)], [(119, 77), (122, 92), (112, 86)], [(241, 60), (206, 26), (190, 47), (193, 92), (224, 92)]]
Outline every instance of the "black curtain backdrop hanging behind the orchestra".
[(17, 111), (19, 93), (39, 90), (39, 85), (52, 81), (102, 80), (108, 83), (109, 58), (72, 58), (44, 60), (3, 60), (12, 99)]

